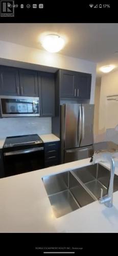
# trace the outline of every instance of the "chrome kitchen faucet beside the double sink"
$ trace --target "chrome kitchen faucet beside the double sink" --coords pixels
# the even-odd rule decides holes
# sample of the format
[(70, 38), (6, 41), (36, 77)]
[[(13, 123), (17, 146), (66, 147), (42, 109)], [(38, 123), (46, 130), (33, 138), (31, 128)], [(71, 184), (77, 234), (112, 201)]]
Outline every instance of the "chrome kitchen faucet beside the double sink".
[(115, 169), (114, 157), (118, 157), (118, 152), (116, 152), (116, 150), (100, 150), (95, 152), (90, 160), (92, 164), (98, 163), (100, 161), (110, 162), (110, 181), (107, 189), (107, 195), (103, 197), (103, 189), (101, 189), (101, 197), (99, 200), (101, 204), (104, 203), (107, 207), (112, 207), (113, 205), (113, 180)]

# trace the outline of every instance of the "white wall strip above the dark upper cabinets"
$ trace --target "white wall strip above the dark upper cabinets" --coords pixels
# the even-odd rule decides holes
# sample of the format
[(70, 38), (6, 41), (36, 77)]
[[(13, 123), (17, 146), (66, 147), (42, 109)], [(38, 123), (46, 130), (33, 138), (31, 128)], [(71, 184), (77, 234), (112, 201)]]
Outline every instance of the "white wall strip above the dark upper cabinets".
[[(92, 74), (90, 103), (94, 103), (96, 63), (0, 41), (0, 58)], [(2, 64), (2, 61), (1, 61)], [(17, 65), (18, 67), (18, 65)], [(21, 64), (20, 64), (21, 67)], [(34, 67), (33, 67), (34, 68)], [(31, 66), (32, 69), (32, 66)]]

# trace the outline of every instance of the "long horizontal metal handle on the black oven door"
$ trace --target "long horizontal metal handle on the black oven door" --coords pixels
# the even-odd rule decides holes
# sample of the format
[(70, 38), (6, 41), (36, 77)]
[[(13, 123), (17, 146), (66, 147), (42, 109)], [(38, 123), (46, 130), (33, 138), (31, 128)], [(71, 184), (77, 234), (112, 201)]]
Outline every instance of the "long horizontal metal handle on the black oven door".
[(18, 150), (18, 151), (6, 152), (6, 153), (4, 153), (4, 156), (27, 154), (27, 153), (32, 153), (32, 152), (36, 152), (36, 151), (42, 151), (43, 149), (44, 149), (44, 147), (36, 147), (36, 148), (29, 148), (28, 150)]

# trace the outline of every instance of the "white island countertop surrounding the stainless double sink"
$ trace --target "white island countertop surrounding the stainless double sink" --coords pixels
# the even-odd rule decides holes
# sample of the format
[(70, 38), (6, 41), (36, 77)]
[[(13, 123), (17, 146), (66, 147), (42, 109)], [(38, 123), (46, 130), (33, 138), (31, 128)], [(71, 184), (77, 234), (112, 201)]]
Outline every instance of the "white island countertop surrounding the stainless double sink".
[(58, 219), (53, 214), (41, 178), (89, 165), (89, 161), (0, 179), (0, 232), (118, 232), (118, 191), (113, 193), (111, 208), (95, 201)]

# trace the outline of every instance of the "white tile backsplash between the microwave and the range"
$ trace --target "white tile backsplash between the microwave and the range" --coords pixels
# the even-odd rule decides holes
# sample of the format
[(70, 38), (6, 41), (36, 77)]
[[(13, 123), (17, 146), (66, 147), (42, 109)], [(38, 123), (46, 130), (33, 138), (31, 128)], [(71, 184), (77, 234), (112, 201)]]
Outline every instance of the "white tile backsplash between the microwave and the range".
[(8, 117), (0, 119), (0, 138), (52, 132), (51, 117)]

